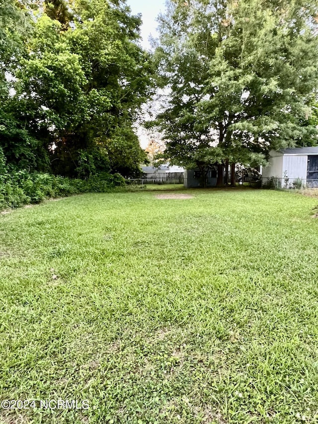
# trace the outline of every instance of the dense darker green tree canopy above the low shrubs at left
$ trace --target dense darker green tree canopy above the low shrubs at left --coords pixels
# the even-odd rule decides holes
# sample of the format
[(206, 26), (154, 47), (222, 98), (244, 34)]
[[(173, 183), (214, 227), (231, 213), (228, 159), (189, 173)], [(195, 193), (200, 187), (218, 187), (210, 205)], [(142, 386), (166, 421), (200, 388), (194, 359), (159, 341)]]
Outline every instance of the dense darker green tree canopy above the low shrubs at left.
[(153, 72), (140, 16), (122, 0), (0, 1), (7, 162), (69, 176), (83, 174), (84, 163), (87, 174), (138, 172), (146, 155), (132, 125)]

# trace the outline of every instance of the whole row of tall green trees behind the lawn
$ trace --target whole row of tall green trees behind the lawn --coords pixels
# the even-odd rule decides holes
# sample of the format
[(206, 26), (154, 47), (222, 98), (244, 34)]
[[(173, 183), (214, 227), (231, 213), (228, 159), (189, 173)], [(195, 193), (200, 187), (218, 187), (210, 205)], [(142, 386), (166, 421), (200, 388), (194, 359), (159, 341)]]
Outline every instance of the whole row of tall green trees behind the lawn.
[(156, 87), (161, 155), (218, 185), (270, 149), (317, 144), (313, 0), (168, 0), (153, 54), (124, 0), (0, 0), (0, 173), (139, 173)]

